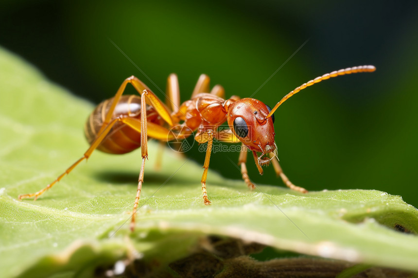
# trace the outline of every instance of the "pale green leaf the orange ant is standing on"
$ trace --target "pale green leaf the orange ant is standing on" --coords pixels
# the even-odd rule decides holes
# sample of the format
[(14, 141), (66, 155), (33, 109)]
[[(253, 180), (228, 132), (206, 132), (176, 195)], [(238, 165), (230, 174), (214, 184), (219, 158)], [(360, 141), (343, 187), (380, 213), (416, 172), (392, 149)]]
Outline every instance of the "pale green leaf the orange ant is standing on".
[[(167, 148), (157, 171), (155, 142), (149, 143), (134, 233), (127, 212), (136, 194), (139, 151), (95, 152), (38, 200), (19, 201), (19, 194), (43, 188), (82, 156), (88, 147), (83, 125), (93, 106), (5, 50), (0, 88), (2, 277), (90, 277), (134, 259), (159, 271), (196, 248), (209, 250), (208, 235), (418, 271), (418, 212), (400, 196), (374, 190), (303, 195), (270, 185), (250, 191), (243, 181), (209, 170), (212, 205), (205, 206), (202, 164)], [(232, 163), (230, 169), (238, 171)]]

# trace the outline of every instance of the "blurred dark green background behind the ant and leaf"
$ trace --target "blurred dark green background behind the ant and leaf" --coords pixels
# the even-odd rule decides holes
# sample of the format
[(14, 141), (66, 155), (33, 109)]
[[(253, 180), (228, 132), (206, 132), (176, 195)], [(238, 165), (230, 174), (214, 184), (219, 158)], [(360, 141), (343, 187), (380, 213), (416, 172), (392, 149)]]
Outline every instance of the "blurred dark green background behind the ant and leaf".
[[(374, 73), (317, 84), (279, 108), (281, 166), (308, 190), (377, 189), (418, 207), (417, 1), (3, 0), (0, 16), (1, 46), (94, 103), (130, 75), (164, 98), (109, 39), (162, 90), (177, 73), (182, 101), (201, 73), (227, 96), (249, 97), (307, 39), (254, 98), (273, 107), (319, 75), (375, 65)], [(187, 156), (203, 165), (197, 145)], [(213, 154), (210, 171), (240, 179), (226, 157), (235, 162), (238, 153)], [(251, 156), (247, 167), (254, 182), (283, 186), (272, 167), (260, 176)]]

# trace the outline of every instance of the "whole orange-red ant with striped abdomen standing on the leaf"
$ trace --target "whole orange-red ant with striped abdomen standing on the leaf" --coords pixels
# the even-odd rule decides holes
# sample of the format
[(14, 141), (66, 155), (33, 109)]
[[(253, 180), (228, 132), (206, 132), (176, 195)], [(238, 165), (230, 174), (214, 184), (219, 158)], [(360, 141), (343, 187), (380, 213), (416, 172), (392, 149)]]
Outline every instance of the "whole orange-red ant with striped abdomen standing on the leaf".
[[(314, 83), (340, 75), (375, 70), (373, 65), (363, 65), (324, 74), (291, 91), (273, 109), (254, 98), (232, 96), (225, 99), (225, 90), (220, 85), (214, 86), (209, 92), (209, 77), (205, 74), (200, 76), (192, 97), (181, 105), (177, 76), (171, 74), (167, 80), (167, 102), (170, 106), (168, 108), (143, 82), (135, 76), (131, 76), (122, 82), (113, 98), (101, 102), (87, 118), (84, 131), (90, 147), (84, 156), (44, 189), (33, 194), (19, 195), (18, 198), (20, 200), (35, 197), (36, 200), (38, 196), (69, 174), (80, 162), (87, 160), (95, 149), (107, 153), (123, 154), (140, 147), (142, 164), (130, 225), (130, 229), (133, 231), (144, 178), (145, 161), (148, 159), (148, 138), (168, 142), (174, 139), (185, 139), (191, 136), (193, 131), (197, 131), (194, 135), (197, 142), (208, 143), (202, 180), (200, 181), (205, 205), (210, 204), (206, 191), (206, 178), (213, 138), (221, 142), (242, 143), (238, 164), (241, 166), (243, 180), (250, 189), (255, 186), (249, 180), (245, 166), (248, 149), (252, 151), (255, 164), (261, 175), (263, 174), (261, 167), (267, 166), (271, 162), (276, 174), (289, 188), (307, 193), (306, 189), (294, 185), (286, 177), (279, 165), (279, 160), (274, 159), (277, 158), (277, 146), (274, 141), (276, 133), (273, 126), (273, 113), (288, 98)], [(122, 96), (128, 83), (132, 84), (140, 96)], [(228, 122), (230, 129), (218, 131), (218, 127), (225, 121)], [(258, 153), (261, 154), (258, 155)]]

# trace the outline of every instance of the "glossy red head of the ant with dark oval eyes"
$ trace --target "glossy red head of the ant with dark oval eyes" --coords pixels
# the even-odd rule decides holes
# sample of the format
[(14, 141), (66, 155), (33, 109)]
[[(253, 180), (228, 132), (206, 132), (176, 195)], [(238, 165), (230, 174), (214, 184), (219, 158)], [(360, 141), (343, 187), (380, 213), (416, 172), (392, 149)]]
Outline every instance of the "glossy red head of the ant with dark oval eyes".
[(271, 108), (260, 100), (242, 98), (228, 107), (229, 128), (250, 150), (263, 154), (276, 149), (274, 144), (274, 115), (267, 118)]

